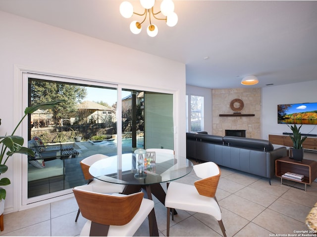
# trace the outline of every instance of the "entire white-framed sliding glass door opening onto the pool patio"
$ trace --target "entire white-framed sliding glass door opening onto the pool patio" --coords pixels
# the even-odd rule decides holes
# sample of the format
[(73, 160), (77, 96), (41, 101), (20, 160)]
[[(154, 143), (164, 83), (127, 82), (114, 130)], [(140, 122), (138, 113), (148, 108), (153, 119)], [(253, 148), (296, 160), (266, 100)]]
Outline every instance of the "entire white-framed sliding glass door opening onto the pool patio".
[(103, 82), (45, 75), (25, 74), (23, 80), (25, 106), (65, 101), (28, 117), (28, 146), (36, 157), (23, 166), (27, 203), (65, 195), (86, 184), (80, 161), (91, 155), (173, 149), (172, 94), (118, 90), (121, 87)]

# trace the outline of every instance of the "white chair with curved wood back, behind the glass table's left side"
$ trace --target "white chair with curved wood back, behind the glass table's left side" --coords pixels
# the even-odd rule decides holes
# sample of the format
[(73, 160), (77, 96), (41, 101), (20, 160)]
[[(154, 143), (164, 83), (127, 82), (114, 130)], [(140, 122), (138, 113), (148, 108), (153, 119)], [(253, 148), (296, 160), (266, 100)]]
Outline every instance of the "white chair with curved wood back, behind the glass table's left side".
[[(100, 193), (122, 193), (123, 189), (125, 188), (125, 185), (122, 184), (112, 184), (107, 183), (105, 181), (101, 181), (98, 179), (95, 179), (90, 173), (89, 173), (89, 167), (95, 163), (96, 161), (100, 159), (105, 159), (107, 156), (102, 154), (95, 154), (92, 156), (89, 156), (87, 158), (84, 158), (80, 161), (80, 166), (84, 174), (84, 178), (88, 180), (88, 185), (94, 184), (95, 187), (98, 186), (98, 190)], [(78, 219), (78, 216), (80, 214), (80, 209), (78, 209), (75, 222)]]

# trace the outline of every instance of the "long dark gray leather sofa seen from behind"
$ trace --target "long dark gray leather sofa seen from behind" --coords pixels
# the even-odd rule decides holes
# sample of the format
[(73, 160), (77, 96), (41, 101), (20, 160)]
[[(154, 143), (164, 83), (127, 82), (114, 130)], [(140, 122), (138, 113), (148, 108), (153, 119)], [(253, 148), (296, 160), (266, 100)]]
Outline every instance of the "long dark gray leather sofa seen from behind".
[(218, 165), (270, 179), (275, 175), (275, 159), (286, 157), (286, 147), (278, 148), (262, 139), (187, 133), (187, 158), (213, 161)]

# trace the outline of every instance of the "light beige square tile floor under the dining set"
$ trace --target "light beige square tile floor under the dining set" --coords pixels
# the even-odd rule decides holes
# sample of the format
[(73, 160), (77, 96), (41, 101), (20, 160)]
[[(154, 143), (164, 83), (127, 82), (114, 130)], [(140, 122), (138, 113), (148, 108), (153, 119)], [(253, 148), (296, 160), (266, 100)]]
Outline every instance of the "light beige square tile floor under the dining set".
[[(307, 192), (281, 185), (244, 172), (221, 168), (216, 197), (228, 237), (269, 237), (307, 231), (305, 218), (317, 202), (317, 183)], [(193, 184), (190, 175), (178, 182)], [(162, 184), (166, 189), (166, 185)], [(159, 235), (166, 235), (166, 209), (155, 199)], [(75, 222), (78, 206), (74, 197), (28, 210), (4, 215), (3, 236), (78, 236), (86, 222), (81, 215)], [(135, 236), (149, 236), (147, 220)], [(170, 236), (221, 236), (217, 221), (205, 214), (178, 210), (171, 221)], [(297, 235), (299, 236), (299, 235)]]

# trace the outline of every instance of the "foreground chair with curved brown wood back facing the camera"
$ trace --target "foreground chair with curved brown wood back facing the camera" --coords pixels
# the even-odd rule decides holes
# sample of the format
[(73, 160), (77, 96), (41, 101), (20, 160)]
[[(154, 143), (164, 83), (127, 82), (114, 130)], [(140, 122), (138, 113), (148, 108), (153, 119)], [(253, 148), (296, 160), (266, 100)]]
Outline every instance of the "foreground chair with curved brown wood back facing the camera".
[(130, 195), (101, 194), (94, 185), (73, 189), (82, 216), (88, 219), (80, 236), (133, 236), (149, 217), (150, 235), (154, 201), (143, 198), (143, 193)]

